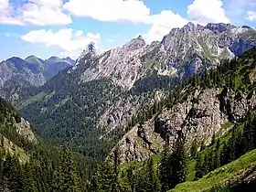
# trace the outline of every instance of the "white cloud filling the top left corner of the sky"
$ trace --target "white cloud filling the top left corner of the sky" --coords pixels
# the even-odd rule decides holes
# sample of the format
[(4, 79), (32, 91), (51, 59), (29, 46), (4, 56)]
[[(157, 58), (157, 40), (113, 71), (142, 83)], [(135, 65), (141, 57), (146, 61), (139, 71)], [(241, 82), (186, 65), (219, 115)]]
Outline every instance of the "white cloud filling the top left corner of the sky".
[(0, 24), (36, 26), (67, 25), (72, 22), (62, 7), (62, 0), (28, 0), (16, 10), (9, 0), (0, 0)]

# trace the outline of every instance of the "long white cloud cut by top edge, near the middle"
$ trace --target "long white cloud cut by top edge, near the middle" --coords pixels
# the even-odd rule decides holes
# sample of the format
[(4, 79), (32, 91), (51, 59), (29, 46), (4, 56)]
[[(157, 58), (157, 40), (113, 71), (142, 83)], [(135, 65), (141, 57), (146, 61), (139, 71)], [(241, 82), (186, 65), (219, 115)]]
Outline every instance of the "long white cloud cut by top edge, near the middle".
[(74, 16), (100, 21), (147, 23), (150, 9), (141, 0), (69, 0), (64, 5)]

